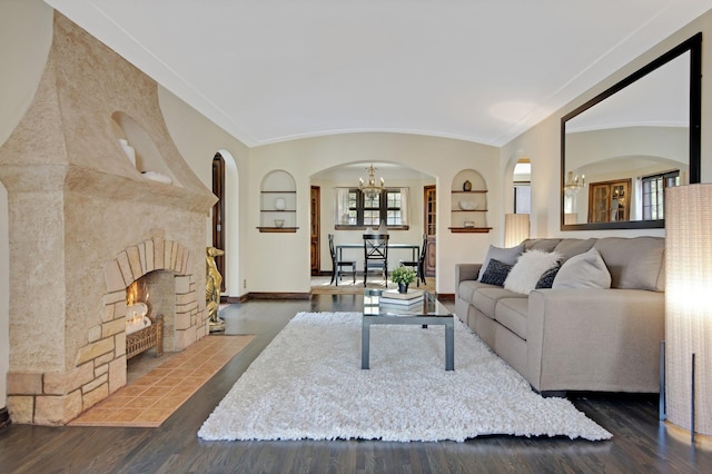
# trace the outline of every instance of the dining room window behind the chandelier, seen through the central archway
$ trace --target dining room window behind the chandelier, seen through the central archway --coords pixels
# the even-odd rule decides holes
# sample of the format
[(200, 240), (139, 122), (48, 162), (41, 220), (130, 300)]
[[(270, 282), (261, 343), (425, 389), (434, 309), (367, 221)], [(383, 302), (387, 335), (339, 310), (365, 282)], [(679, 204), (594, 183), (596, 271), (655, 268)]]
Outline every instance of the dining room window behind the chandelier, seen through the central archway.
[(408, 188), (387, 188), (366, 197), (358, 188), (336, 188), (334, 223), (336, 229), (378, 227), (408, 228)]

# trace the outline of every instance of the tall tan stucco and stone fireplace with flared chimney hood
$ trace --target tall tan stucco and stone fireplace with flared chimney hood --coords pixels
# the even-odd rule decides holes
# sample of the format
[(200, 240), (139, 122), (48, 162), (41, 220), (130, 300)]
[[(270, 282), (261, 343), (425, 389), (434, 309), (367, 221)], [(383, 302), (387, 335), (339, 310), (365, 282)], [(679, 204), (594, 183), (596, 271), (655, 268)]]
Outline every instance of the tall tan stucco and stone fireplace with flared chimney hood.
[(57, 12), (33, 102), (0, 147), (0, 180), (13, 423), (66, 424), (126, 385), (126, 290), (139, 278), (162, 288), (150, 302), (166, 350), (208, 334), (216, 198), (172, 142), (157, 83)]

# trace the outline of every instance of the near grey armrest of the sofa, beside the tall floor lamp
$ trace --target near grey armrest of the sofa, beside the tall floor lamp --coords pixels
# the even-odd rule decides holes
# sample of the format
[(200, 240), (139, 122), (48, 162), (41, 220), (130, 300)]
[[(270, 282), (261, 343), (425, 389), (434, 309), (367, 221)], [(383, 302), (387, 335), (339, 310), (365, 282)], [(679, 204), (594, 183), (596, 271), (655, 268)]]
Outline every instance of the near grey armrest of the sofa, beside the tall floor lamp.
[(526, 378), (540, 392), (657, 392), (664, 330), (664, 293), (534, 290)]

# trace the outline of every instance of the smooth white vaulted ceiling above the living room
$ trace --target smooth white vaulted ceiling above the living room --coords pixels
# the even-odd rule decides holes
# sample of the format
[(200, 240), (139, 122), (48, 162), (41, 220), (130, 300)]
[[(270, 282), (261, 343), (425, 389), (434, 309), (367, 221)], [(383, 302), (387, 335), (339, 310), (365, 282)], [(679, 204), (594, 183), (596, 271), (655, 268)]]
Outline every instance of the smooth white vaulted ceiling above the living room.
[(711, 0), (46, 0), (254, 147), (398, 131), (501, 146)]

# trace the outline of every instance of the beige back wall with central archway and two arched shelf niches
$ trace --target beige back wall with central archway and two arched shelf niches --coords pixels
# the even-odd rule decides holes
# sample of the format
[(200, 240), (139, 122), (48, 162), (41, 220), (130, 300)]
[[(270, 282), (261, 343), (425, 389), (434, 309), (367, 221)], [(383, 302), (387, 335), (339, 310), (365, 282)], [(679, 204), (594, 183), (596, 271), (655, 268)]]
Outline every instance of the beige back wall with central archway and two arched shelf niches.
[[(248, 287), (253, 292), (309, 290), (309, 186), (316, 172), (364, 160), (399, 164), (433, 176), (437, 186), (437, 289), (454, 292), (455, 263), (482, 259), (490, 244), (500, 244), (503, 214), (498, 199), (490, 200), (490, 234), (452, 234), (451, 187), (463, 169), (478, 171), (488, 196), (501, 194), (498, 149), (468, 141), (405, 134), (349, 134), (268, 145), (250, 150), (250, 214)], [(297, 184), (296, 234), (263, 234), (259, 226), (259, 182), (273, 169), (291, 174)], [(326, 190), (328, 195), (329, 190)], [(417, 191), (419, 192), (419, 191)], [(323, 192), (323, 199), (325, 198)], [(419, 219), (421, 217), (418, 217)], [(323, 220), (324, 221), (324, 220)], [(326, 220), (328, 223), (329, 220)], [(414, 229), (418, 241), (422, 227)], [(322, 229), (322, 234), (328, 228)], [(399, 237), (398, 237), (399, 239)], [(324, 237), (324, 245), (327, 245)]]

